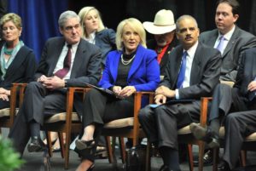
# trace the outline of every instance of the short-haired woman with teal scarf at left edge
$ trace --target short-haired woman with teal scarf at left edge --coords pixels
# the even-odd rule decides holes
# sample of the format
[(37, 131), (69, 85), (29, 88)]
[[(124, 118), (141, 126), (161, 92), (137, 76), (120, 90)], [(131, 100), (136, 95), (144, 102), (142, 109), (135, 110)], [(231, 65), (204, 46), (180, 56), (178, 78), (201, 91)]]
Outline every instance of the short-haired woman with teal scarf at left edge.
[(0, 20), (3, 41), (0, 43), (0, 109), (9, 107), (12, 83), (28, 83), (34, 78), (36, 58), (32, 49), (20, 40), (22, 22), (14, 13)]

